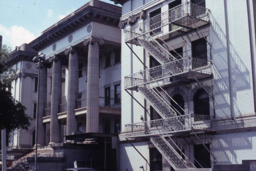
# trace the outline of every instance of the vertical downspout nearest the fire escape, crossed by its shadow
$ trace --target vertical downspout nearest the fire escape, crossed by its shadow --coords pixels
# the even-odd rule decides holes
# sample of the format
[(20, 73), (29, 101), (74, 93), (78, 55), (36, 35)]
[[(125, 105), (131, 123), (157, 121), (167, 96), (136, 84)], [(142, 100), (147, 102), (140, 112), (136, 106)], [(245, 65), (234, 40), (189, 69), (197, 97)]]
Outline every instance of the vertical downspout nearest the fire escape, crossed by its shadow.
[(225, 30), (226, 30), (226, 46), (227, 46), (227, 65), (228, 65), (228, 84), (229, 84), (229, 103), (230, 103), (230, 117), (233, 120), (234, 109), (233, 109), (233, 82), (232, 82), (232, 71), (231, 71), (231, 60), (230, 60), (230, 44), (229, 44), (229, 27), (228, 27), (228, 14), (227, 14), (227, 1), (224, 1), (224, 12), (225, 12)]

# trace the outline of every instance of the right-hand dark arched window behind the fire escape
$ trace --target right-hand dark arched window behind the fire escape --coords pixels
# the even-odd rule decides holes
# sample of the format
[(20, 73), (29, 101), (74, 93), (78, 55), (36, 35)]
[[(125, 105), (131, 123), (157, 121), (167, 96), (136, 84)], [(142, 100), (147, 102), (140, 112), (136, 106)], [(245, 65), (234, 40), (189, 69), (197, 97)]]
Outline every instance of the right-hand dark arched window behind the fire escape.
[(197, 90), (193, 100), (194, 114), (210, 116), (209, 95), (205, 92), (205, 90)]

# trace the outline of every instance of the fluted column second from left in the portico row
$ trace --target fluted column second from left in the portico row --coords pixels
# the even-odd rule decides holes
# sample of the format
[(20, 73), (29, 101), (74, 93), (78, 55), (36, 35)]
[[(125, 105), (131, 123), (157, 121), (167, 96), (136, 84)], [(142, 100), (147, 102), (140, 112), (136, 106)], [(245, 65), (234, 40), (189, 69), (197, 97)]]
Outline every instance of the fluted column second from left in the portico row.
[(51, 96), (51, 122), (50, 122), (50, 143), (60, 142), (60, 123), (58, 122), (57, 113), (59, 99), (61, 98), (61, 59), (58, 56), (52, 57), (52, 96)]

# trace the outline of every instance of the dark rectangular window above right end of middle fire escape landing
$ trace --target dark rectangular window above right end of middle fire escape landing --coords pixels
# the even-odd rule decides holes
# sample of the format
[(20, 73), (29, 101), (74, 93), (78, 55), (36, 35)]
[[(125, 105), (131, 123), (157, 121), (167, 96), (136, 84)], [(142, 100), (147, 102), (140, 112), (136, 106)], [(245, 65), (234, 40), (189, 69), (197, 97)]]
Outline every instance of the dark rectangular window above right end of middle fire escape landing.
[(191, 42), (193, 63), (192, 68), (206, 66), (207, 63), (207, 41), (205, 38)]

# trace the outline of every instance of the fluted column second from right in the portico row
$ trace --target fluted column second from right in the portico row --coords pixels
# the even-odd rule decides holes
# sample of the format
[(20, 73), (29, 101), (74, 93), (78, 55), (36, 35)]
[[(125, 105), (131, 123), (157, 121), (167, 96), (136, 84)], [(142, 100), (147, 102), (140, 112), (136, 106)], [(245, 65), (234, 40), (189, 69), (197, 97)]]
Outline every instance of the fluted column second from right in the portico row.
[(74, 109), (76, 94), (78, 92), (78, 53), (71, 47), (65, 51), (69, 55), (69, 75), (68, 75), (68, 101), (67, 101), (67, 135), (77, 132), (77, 120)]

